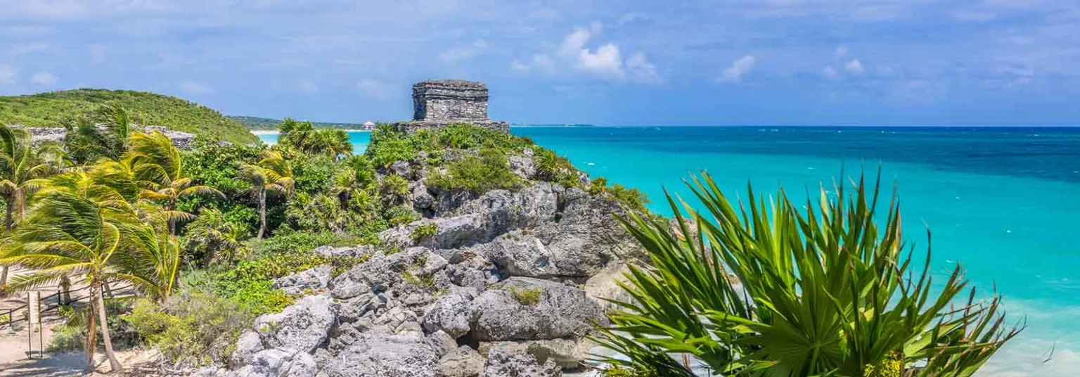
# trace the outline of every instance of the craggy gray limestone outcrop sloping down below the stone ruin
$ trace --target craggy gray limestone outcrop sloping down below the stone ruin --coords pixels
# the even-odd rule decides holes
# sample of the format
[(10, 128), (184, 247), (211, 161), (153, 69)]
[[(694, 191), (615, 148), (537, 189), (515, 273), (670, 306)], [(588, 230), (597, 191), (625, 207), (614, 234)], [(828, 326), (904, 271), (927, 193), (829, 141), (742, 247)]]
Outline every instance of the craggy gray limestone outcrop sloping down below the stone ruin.
[[(513, 158), (515, 172), (532, 178), (531, 156)], [(316, 248), (369, 257), (333, 279), (323, 266), (274, 281), (318, 295), (259, 318), (220, 373), (308, 373), (309, 358), (311, 375), (327, 377), (580, 371), (594, 346), (586, 335), (607, 321), (602, 298), (623, 297), (615, 282), (625, 259), (642, 255), (615, 219), (620, 207), (538, 180), (480, 196), (429, 189), (417, 166), (395, 163), (380, 174), (409, 180), (423, 218), (381, 232), (377, 245)], [(414, 237), (420, 227), (434, 234)]]

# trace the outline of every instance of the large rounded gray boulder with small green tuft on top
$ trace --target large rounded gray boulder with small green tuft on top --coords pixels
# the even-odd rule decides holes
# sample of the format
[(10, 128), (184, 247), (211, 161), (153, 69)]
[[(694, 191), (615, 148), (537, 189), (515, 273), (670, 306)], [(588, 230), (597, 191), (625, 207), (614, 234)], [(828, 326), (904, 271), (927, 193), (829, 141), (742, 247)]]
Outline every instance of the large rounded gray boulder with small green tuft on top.
[[(515, 297), (535, 296), (535, 301)], [(470, 304), (476, 340), (579, 338), (591, 323), (607, 323), (599, 305), (585, 292), (556, 282), (510, 278), (491, 285)]]

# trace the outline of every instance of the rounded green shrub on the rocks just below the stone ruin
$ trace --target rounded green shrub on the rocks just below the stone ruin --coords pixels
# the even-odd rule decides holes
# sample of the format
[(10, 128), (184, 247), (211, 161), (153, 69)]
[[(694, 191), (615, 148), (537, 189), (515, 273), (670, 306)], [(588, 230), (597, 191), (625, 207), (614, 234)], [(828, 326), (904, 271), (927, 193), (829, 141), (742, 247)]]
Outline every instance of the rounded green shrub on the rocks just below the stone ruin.
[(461, 188), (478, 196), (495, 189), (516, 190), (523, 183), (510, 171), (505, 154), (486, 148), (480, 157), (468, 156), (450, 162), (447, 172), (433, 175), (428, 185), (444, 190)]

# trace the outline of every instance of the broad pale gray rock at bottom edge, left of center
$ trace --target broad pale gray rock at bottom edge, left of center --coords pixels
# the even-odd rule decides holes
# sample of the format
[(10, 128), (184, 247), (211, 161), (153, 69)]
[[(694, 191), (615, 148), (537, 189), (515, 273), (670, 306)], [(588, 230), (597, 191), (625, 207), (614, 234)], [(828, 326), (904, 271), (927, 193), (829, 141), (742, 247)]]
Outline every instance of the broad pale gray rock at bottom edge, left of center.
[(372, 331), (322, 367), (327, 377), (436, 377), (438, 358), (423, 337)]

